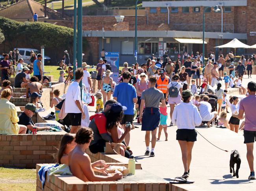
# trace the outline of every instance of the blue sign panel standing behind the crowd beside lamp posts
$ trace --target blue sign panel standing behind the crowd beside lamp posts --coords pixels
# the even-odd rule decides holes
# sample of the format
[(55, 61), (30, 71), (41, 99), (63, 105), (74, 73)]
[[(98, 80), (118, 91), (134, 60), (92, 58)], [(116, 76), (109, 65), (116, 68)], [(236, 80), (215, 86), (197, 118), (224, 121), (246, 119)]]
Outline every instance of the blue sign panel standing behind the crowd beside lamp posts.
[(119, 78), (119, 52), (105, 52), (105, 59), (111, 65), (113, 74), (111, 77), (118, 84)]

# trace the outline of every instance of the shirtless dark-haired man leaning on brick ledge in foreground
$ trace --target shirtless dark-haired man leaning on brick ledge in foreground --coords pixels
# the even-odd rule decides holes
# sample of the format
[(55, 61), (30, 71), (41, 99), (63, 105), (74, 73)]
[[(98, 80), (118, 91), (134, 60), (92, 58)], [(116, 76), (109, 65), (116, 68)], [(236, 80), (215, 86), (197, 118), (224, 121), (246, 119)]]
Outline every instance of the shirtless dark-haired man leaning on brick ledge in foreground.
[(89, 127), (81, 127), (76, 133), (76, 147), (69, 153), (69, 168), (71, 173), (85, 182), (115, 181), (121, 179), (122, 173), (114, 173), (108, 176), (95, 175), (94, 170), (98, 171), (95, 167), (105, 166), (106, 164), (102, 163), (102, 161), (92, 164), (90, 157), (85, 153), (85, 149), (89, 147), (92, 139), (93, 131)]

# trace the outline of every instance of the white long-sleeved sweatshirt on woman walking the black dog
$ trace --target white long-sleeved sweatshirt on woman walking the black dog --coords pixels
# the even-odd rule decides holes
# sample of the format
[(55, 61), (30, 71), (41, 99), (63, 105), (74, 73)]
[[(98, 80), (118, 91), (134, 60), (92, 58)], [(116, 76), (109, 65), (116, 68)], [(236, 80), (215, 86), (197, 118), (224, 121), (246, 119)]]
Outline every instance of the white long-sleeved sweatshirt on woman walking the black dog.
[(173, 111), (172, 122), (178, 129), (195, 129), (202, 123), (202, 118), (198, 112), (197, 106), (192, 102), (180, 102)]

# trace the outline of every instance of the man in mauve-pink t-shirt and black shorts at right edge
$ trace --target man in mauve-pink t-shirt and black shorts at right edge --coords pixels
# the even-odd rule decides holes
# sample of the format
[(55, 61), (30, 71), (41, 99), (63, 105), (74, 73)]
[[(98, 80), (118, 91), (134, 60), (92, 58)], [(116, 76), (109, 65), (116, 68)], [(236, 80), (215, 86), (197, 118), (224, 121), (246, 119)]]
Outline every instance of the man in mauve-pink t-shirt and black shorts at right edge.
[(247, 91), (249, 96), (243, 98), (240, 101), (238, 119), (242, 120), (243, 114), (245, 113), (245, 127), (243, 136), (245, 138), (244, 143), (247, 147), (247, 161), (250, 168), (250, 180), (255, 179), (254, 167), (253, 167), (253, 143), (256, 138), (256, 117), (255, 117), (255, 106), (256, 106), (256, 83), (249, 82), (247, 85)]

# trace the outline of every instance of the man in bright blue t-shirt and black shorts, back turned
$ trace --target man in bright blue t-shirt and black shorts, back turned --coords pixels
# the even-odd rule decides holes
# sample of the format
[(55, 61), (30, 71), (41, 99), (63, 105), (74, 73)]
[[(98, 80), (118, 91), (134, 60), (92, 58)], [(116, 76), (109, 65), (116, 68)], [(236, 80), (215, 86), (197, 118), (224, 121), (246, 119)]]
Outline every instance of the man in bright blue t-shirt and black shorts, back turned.
[[(124, 71), (122, 74), (123, 82), (115, 87), (115, 91), (113, 93), (114, 100), (117, 100), (117, 102), (122, 104), (122, 106), (127, 107), (126, 111), (124, 111), (124, 117), (121, 121), (121, 125), (123, 126), (126, 124), (126, 122), (133, 124), (134, 104), (136, 104), (138, 100), (135, 87), (128, 83), (131, 76), (132, 75), (130, 72)], [(127, 145), (129, 145), (130, 133), (126, 135), (125, 142)]]

